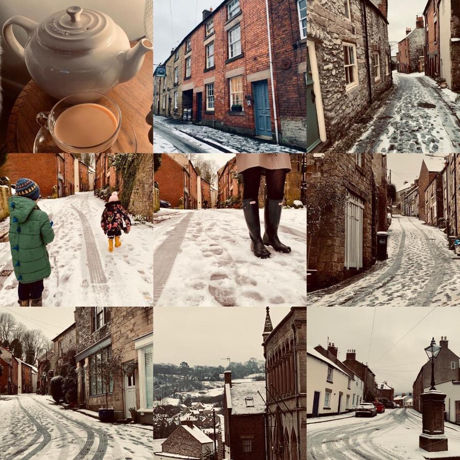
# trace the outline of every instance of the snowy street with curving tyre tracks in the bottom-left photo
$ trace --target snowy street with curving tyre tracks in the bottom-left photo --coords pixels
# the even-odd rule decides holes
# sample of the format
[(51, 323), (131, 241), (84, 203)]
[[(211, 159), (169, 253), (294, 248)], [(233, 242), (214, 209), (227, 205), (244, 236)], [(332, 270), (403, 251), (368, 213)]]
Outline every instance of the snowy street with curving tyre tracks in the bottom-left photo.
[(152, 458), (152, 432), (141, 425), (105, 424), (34, 394), (0, 398), (2, 458)]

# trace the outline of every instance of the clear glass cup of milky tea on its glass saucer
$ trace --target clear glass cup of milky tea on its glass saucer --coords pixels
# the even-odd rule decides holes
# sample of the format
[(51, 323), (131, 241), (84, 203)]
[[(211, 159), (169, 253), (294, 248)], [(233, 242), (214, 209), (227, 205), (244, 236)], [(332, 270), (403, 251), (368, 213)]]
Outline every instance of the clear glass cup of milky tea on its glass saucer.
[[(88, 102), (85, 102), (88, 101)], [(87, 104), (87, 105), (85, 105)], [(80, 107), (78, 107), (80, 106)], [(101, 107), (95, 107), (101, 106)], [(65, 126), (65, 122), (63, 121), (64, 118), (61, 119), (59, 122), (58, 130), (56, 130), (56, 124), (58, 123), (59, 117), (62, 116), (62, 113), (67, 110), (73, 108), (73, 112), (75, 114), (75, 110), (78, 108), (86, 110), (86, 115), (88, 116), (88, 126), (83, 127), (80, 131), (75, 131), (72, 129), (72, 126)], [(106, 134), (102, 137), (99, 136), (90, 136), (93, 139), (98, 138), (98, 143), (94, 145), (85, 145), (84, 137), (85, 133), (82, 133), (81, 137), (82, 140), (80, 142), (69, 142), (64, 141), (62, 139), (62, 135), (64, 132), (71, 132), (70, 135), (75, 139), (76, 137), (80, 136), (82, 130), (88, 129), (88, 131), (93, 132), (94, 129), (99, 129), (95, 127), (94, 120), (90, 120), (89, 116), (91, 115), (91, 111), (93, 110), (93, 114), (96, 114), (94, 110), (99, 110), (99, 116), (101, 116), (101, 112), (104, 112), (102, 121), (110, 120), (109, 124), (113, 122), (113, 131), (109, 126), (109, 129), (106, 131)], [(70, 112), (65, 114), (65, 118), (68, 119), (68, 123), (71, 123), (72, 120), (77, 121), (79, 124), (84, 120), (84, 113), (80, 114), (80, 117), (69, 117)], [(106, 120), (104, 120), (104, 118)], [(37, 136), (35, 137), (34, 142), (34, 153), (44, 153), (44, 152), (67, 152), (67, 153), (101, 153), (107, 152), (111, 149), (113, 144), (117, 141), (117, 137), (120, 131), (120, 127), (122, 124), (122, 116), (120, 107), (118, 104), (113, 101), (112, 99), (108, 98), (99, 93), (77, 93), (72, 96), (67, 96), (64, 99), (61, 99), (57, 102), (54, 107), (49, 112), (40, 112), (37, 114), (37, 122), (41, 126)], [(60, 125), (64, 126), (60, 126)], [(83, 123), (84, 124), (84, 123)], [(58, 133), (56, 131), (59, 131)], [(72, 145), (76, 144), (76, 145)]]

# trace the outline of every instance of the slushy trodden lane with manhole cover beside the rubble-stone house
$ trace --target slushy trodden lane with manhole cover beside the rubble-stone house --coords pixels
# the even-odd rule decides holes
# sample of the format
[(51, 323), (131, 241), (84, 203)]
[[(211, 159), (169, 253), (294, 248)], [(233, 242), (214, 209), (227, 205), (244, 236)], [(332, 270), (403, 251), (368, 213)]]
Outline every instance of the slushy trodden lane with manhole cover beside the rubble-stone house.
[[(460, 152), (460, 103), (423, 73), (393, 72), (393, 88), (335, 143), (353, 152)], [(359, 131), (359, 132), (358, 132)]]

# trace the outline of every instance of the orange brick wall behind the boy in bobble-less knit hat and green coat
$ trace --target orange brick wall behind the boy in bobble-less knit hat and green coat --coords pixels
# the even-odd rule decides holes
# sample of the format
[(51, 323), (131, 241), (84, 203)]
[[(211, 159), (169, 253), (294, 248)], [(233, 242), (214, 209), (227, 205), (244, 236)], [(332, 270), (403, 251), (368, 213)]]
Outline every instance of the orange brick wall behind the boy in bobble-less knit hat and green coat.
[(38, 183), (43, 198), (51, 197), (52, 188), (57, 186), (56, 161), (55, 153), (9, 153), (0, 167), (0, 176), (8, 176), (12, 185), (19, 177), (32, 179)]

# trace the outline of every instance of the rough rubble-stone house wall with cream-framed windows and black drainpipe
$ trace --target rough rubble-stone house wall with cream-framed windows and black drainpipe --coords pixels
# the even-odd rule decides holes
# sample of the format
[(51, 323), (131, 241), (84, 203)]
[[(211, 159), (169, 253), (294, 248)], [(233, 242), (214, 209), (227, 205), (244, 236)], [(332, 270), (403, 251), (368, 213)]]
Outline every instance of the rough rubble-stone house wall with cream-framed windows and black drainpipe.
[[(391, 73), (385, 72), (385, 60), (390, 55), (387, 24), (378, 10), (365, 2), (369, 37), (369, 56), (366, 56), (362, 4), (361, 0), (350, 0), (351, 20), (344, 15), (343, 2), (313, 0), (307, 8), (307, 38), (315, 45), (326, 134), (332, 141), (346, 134), (367, 108), (371, 91), (376, 99), (392, 84)], [(358, 85), (349, 89), (342, 42), (356, 47)], [(372, 62), (374, 51), (380, 54), (381, 78), (376, 82), (371, 68), (369, 88), (367, 62)]]

